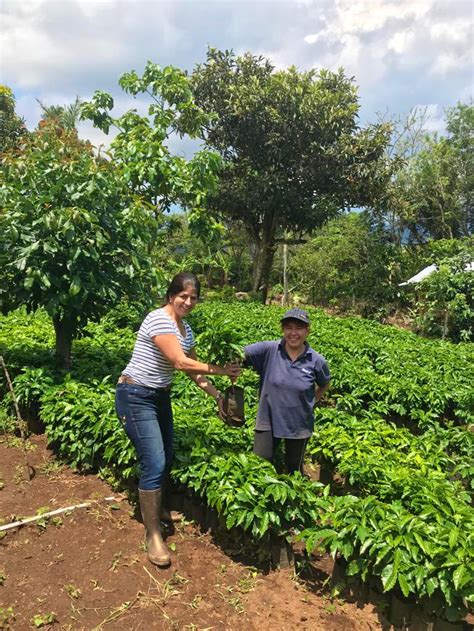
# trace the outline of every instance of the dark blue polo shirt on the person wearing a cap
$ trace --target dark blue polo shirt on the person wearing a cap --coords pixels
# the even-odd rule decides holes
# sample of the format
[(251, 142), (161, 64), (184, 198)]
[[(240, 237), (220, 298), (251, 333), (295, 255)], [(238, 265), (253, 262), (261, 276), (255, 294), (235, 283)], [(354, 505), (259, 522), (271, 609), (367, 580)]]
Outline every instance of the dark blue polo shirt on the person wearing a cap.
[(322, 355), (307, 343), (294, 361), (279, 342), (257, 342), (244, 348), (244, 366), (260, 375), (258, 430), (272, 430), (276, 438), (309, 438), (314, 428), (315, 387), (330, 381)]

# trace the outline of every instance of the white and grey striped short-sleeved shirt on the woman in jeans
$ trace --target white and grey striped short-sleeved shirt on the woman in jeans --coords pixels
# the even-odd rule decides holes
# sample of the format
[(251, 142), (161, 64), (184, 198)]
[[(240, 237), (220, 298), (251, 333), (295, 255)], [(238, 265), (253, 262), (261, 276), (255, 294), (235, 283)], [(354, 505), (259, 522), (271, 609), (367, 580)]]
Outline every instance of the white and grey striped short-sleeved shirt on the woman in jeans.
[(186, 335), (183, 337), (176, 322), (164, 308), (151, 311), (138, 330), (132, 358), (122, 372), (141, 386), (165, 388), (173, 380), (174, 368), (153, 343), (155, 335), (176, 335), (185, 355), (195, 346), (193, 332), (183, 321)]

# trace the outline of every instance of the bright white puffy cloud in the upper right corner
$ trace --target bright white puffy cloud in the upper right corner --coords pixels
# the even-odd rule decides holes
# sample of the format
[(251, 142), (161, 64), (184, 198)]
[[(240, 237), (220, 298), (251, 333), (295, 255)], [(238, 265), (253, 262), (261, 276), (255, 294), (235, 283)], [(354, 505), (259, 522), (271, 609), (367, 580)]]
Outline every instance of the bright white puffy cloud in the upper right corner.
[[(393, 96), (401, 105), (409, 97), (416, 99), (418, 91), (429, 93), (429, 99), (438, 92), (442, 102), (450, 90), (451, 98), (466, 93), (474, 52), (469, 2), (448, 6), (443, 0), (336, 0), (325, 6), (319, 29), (307, 20), (302, 46), (314, 51), (314, 65), (332, 70), (343, 66), (354, 75), (370, 102), (377, 101), (374, 90), (390, 98), (386, 104), (391, 108)], [(316, 20), (317, 12), (313, 15)], [(449, 85), (441, 91), (434, 79), (428, 85), (434, 76)], [(383, 110), (383, 104), (377, 109)]]

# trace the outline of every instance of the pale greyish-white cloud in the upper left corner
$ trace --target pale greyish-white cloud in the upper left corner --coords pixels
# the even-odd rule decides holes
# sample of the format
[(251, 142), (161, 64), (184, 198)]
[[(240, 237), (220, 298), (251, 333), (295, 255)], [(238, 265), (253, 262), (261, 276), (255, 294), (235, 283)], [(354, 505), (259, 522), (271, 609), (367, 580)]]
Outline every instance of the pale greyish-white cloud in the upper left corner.
[(179, 48), (183, 33), (171, 22), (175, 11), (166, 2), (6, 1), (0, 34), (5, 80), (35, 90), (74, 82), (80, 88), (95, 76), (110, 87), (122, 72), (144, 66), (157, 43)]

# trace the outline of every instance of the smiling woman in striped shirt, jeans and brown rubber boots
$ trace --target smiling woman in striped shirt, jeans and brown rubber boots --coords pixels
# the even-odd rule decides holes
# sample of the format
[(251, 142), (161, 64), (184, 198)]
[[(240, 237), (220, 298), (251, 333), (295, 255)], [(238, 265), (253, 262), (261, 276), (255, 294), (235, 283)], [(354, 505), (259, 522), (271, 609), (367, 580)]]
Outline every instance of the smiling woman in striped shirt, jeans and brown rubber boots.
[(162, 488), (173, 455), (173, 413), (170, 386), (175, 370), (183, 370), (214, 397), (222, 413), (222, 395), (203, 375), (238, 377), (240, 368), (198, 361), (193, 332), (184, 320), (197, 304), (200, 283), (194, 274), (177, 274), (166, 292), (166, 304), (149, 313), (138, 331), (130, 362), (117, 384), (115, 406), (140, 462), (138, 494), (146, 531), (149, 560), (160, 567), (171, 563), (160, 519)]

